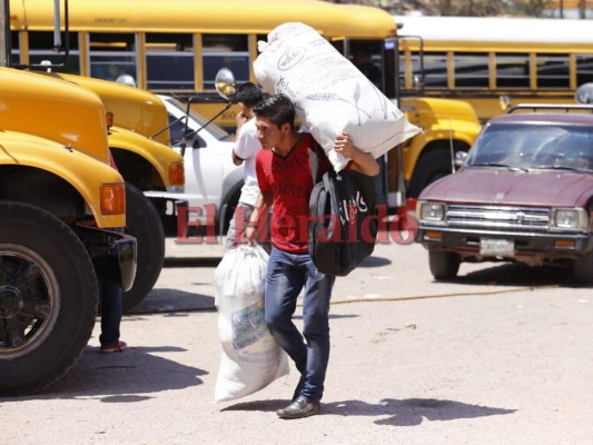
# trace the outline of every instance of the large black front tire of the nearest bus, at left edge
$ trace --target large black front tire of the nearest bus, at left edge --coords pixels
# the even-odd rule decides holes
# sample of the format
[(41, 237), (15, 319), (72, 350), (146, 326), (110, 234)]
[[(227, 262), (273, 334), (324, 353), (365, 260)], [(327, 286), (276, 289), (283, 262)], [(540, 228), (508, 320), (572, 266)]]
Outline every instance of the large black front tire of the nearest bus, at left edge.
[(39, 392), (76, 363), (95, 328), (87, 249), (37, 207), (0, 202), (0, 395)]

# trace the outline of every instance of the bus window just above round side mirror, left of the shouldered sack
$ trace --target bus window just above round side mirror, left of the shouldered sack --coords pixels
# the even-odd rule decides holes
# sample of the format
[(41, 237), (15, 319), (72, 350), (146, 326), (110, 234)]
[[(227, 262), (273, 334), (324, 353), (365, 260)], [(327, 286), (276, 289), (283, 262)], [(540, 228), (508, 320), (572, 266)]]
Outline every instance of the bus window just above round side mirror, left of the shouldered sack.
[(230, 69), (237, 83), (249, 80), (249, 43), (247, 36), (202, 34), (204, 89), (214, 90), (214, 80), (223, 67)]

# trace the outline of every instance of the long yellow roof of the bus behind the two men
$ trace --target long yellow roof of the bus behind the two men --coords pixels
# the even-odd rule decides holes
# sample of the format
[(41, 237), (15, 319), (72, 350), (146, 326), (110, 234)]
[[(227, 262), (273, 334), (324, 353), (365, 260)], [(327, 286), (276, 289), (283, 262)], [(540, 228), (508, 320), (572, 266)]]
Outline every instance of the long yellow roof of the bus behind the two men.
[[(13, 30), (53, 29), (53, 2), (11, 0)], [(392, 17), (379, 8), (319, 0), (69, 0), (72, 31), (260, 33), (300, 21), (327, 38), (387, 38)]]

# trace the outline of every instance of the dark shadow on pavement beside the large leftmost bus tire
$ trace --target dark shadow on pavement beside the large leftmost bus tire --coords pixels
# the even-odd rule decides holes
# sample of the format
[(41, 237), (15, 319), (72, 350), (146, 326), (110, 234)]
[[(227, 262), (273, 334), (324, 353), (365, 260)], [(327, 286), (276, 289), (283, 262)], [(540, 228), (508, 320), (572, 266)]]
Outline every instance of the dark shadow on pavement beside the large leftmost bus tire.
[(106, 403), (144, 402), (147, 393), (201, 385), (204, 369), (186, 366), (154, 353), (184, 353), (175, 346), (128, 347), (121, 354), (100, 354), (87, 346), (75, 367), (48, 389), (22, 399), (88, 399)]

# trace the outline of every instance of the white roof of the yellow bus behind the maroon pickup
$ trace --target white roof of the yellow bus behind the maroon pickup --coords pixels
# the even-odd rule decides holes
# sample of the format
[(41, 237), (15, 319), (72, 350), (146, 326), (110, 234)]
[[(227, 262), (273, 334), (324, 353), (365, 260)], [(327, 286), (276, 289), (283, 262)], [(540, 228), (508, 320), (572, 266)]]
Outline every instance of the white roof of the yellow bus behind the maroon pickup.
[[(517, 44), (544, 43), (551, 49), (583, 46), (583, 49), (589, 47), (586, 52), (591, 52), (593, 44), (591, 20), (418, 16), (393, 16), (393, 19), (397, 24), (403, 24), (398, 34), (419, 36), (425, 47), (431, 49), (496, 44), (497, 49), (507, 47), (520, 50)], [(542, 48), (542, 52), (546, 52), (546, 48)]]

